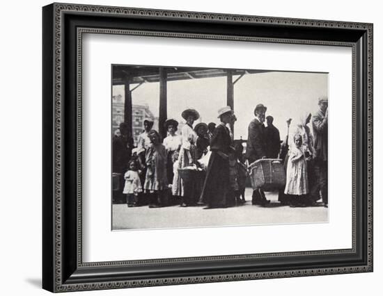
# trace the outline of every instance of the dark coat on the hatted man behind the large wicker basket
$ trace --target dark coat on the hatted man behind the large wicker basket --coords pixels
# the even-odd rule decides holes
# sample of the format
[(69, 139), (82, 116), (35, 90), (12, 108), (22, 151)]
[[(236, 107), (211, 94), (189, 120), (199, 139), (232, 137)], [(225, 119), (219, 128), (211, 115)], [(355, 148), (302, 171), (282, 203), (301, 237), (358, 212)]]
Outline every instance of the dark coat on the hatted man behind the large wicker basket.
[(254, 118), (249, 124), (246, 146), (246, 158), (249, 160), (249, 163), (253, 163), (266, 156), (265, 148), (265, 126), (258, 119)]

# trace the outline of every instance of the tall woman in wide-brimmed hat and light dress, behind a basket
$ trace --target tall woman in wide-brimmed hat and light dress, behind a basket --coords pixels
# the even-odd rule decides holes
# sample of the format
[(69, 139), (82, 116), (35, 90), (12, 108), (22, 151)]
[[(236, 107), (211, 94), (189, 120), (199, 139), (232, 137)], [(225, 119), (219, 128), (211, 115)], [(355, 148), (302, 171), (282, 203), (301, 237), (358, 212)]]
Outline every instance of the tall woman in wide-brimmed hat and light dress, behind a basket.
[[(186, 120), (186, 124), (182, 126), (181, 130), (182, 143), (180, 147), (180, 156), (178, 158), (178, 169), (196, 163), (197, 134), (193, 129), (193, 124), (194, 121), (198, 120), (199, 113), (194, 109), (186, 109), (182, 112), (181, 116)], [(189, 197), (188, 192), (185, 192), (185, 183), (180, 176), (178, 176), (178, 180), (175, 183), (177, 186), (173, 188), (173, 195), (182, 197), (181, 206), (194, 204), (192, 197)]]

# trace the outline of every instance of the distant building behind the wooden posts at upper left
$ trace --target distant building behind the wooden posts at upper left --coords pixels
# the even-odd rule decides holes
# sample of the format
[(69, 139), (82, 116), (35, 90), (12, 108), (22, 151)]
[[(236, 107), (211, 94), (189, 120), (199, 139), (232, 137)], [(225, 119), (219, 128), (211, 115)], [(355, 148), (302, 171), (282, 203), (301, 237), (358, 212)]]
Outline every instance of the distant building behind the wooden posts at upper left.
[[(148, 105), (132, 105), (132, 135), (134, 145), (137, 144), (137, 137), (143, 131), (143, 120), (150, 118), (154, 122), (154, 127), (158, 129), (158, 117), (150, 111)], [(118, 94), (112, 97), (112, 132), (118, 129), (120, 123), (124, 121), (124, 99)]]

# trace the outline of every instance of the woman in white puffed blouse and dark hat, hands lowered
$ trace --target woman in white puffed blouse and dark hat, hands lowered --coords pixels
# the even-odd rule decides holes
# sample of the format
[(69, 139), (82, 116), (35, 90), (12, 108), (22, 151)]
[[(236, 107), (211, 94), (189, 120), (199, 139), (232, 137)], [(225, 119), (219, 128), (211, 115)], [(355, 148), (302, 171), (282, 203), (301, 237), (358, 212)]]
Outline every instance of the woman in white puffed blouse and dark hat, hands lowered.
[(178, 121), (170, 118), (165, 121), (165, 129), (168, 133), (168, 136), (164, 138), (164, 146), (166, 149), (166, 154), (168, 157), (168, 162), (166, 164), (166, 173), (168, 176), (168, 182), (173, 183), (173, 154), (175, 151), (179, 151), (181, 147), (181, 137), (175, 133), (178, 129)]

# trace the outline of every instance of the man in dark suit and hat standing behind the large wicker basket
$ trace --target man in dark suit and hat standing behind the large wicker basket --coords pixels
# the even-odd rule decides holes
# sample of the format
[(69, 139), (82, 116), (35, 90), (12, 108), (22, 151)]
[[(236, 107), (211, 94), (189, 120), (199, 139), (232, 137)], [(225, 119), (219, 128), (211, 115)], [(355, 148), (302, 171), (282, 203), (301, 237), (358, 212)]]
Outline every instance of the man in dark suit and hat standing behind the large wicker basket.
[[(266, 158), (266, 140), (265, 140), (265, 113), (267, 108), (263, 104), (258, 104), (254, 110), (256, 118), (251, 120), (249, 124), (249, 135), (247, 138), (246, 158), (249, 164), (260, 158)], [(261, 188), (253, 191), (252, 204), (260, 204), (265, 206), (269, 204), (269, 200), (265, 197), (265, 192)]]

